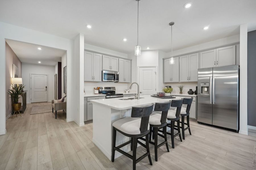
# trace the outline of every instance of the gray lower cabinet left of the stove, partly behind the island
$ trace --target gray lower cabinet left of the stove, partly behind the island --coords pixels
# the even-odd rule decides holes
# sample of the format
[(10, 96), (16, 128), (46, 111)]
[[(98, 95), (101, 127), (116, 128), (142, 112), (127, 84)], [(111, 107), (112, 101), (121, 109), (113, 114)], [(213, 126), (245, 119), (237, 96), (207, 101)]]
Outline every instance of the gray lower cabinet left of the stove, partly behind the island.
[(105, 98), (106, 96), (84, 97), (84, 122), (92, 122), (92, 102), (90, 100)]

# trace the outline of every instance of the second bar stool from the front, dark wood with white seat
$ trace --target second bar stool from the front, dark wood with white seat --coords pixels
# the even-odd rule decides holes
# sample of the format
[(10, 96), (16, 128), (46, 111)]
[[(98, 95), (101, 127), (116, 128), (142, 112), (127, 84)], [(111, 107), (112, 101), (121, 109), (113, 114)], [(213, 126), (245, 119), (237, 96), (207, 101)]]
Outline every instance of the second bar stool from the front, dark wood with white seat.
[[(165, 103), (156, 103), (154, 112), (149, 116), (149, 143), (155, 146), (155, 161), (157, 161), (157, 148), (166, 144), (167, 151), (169, 152), (168, 143), (167, 143), (167, 134), (166, 134), (166, 125), (167, 125), (167, 114), (170, 108), (171, 101)], [(161, 114), (159, 114), (161, 113)], [(158, 130), (163, 129), (164, 135), (159, 134)], [(151, 135), (154, 132), (154, 142), (151, 141)], [(157, 145), (158, 135), (164, 138), (164, 142)], [(142, 139), (144, 140), (144, 139)]]

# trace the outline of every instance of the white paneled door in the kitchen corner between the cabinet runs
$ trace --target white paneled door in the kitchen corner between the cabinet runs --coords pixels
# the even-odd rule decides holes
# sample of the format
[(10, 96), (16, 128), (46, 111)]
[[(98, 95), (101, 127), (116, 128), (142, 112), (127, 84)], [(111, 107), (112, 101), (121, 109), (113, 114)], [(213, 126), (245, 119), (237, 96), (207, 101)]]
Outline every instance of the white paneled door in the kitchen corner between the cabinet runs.
[(139, 67), (140, 93), (156, 94), (156, 67)]

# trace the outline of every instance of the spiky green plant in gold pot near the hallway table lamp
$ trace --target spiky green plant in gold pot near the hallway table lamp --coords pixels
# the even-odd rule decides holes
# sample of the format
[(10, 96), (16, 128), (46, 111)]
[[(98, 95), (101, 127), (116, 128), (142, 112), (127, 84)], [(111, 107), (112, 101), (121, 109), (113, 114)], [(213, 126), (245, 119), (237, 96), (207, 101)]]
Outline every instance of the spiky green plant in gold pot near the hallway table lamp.
[(21, 103), (18, 102), (18, 99), (21, 98), (20, 95), (26, 90), (25, 91), (23, 90), (23, 88), (25, 87), (23, 84), (20, 84), (20, 85), (14, 84), (12, 85), (12, 87), (13, 89), (9, 89), (7, 93), (11, 95), (11, 97), (13, 98), (13, 104), (12, 104), (13, 109), (15, 111), (18, 111), (20, 110), (20, 107), (21, 107)]

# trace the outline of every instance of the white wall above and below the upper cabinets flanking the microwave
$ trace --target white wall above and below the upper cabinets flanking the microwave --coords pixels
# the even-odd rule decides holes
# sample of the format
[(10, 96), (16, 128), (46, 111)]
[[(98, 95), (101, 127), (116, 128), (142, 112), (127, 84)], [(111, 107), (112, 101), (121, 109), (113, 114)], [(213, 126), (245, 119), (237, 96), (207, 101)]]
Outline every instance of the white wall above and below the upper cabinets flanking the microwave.
[[(106, 48), (101, 48), (98, 46), (93, 46), (90, 44), (84, 44), (84, 49), (85, 50), (91, 50), (95, 52), (100, 52), (108, 55), (113, 55), (113, 56), (118, 56), (122, 58), (128, 58), (128, 55), (125, 53), (109, 50)], [(133, 63), (132, 63), (133, 67)], [(133, 77), (132, 77), (133, 78)], [(94, 93), (94, 87), (104, 87), (104, 86), (113, 86), (116, 88), (116, 92), (118, 93), (124, 93), (124, 90), (127, 90), (129, 87), (127, 86), (128, 83), (113, 83), (113, 82), (84, 82), (84, 90), (85, 93)]]

